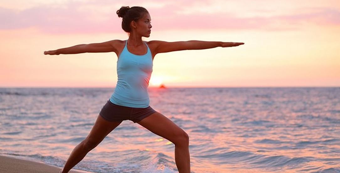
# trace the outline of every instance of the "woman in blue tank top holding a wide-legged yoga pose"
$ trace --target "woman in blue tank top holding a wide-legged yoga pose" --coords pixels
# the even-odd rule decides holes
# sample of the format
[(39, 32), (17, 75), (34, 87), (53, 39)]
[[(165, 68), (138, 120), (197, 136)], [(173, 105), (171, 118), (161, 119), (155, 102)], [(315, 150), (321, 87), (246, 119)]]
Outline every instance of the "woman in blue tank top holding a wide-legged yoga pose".
[(209, 49), (218, 46), (232, 47), (244, 43), (195, 40), (145, 42), (142, 41), (142, 37), (150, 37), (152, 27), (149, 12), (139, 6), (131, 8), (122, 6), (117, 14), (118, 17), (122, 17), (123, 30), (129, 33), (128, 40), (79, 44), (44, 52), (45, 55), (115, 52), (118, 57), (118, 81), (115, 91), (100, 111), (89, 135), (73, 149), (60, 173), (69, 172), (123, 120), (137, 122), (154, 134), (174, 143), (175, 162), (179, 173), (190, 173), (188, 134), (149, 105), (148, 86), (152, 61), (158, 53)]

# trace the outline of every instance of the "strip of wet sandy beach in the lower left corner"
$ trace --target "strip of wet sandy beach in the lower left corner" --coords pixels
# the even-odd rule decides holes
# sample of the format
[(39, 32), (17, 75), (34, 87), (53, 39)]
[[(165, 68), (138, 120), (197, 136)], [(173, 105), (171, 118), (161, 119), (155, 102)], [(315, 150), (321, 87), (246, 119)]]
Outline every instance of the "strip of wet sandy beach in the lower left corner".
[[(8, 156), (0, 156), (1, 173), (58, 173), (59, 167), (46, 165), (44, 163), (22, 160)], [(90, 173), (87, 171), (74, 171), (69, 173)]]

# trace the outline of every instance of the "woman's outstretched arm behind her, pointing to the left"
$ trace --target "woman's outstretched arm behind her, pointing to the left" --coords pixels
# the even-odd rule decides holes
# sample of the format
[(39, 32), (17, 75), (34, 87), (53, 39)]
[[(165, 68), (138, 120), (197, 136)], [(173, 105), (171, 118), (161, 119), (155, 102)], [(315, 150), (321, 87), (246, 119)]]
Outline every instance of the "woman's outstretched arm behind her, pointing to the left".
[(117, 44), (120, 40), (111, 40), (102, 43), (78, 44), (71, 47), (57, 49), (53, 51), (44, 51), (45, 55), (59, 54), (79, 54), (87, 52), (116, 52)]

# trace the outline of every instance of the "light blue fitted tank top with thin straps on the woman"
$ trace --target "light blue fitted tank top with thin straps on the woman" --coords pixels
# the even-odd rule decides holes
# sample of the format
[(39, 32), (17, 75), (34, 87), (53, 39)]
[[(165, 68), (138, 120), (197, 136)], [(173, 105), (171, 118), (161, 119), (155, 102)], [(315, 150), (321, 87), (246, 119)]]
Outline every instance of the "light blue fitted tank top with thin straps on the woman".
[(135, 55), (128, 51), (128, 40), (117, 60), (118, 81), (110, 101), (117, 105), (132, 108), (146, 108), (150, 104), (148, 86), (152, 73), (152, 55)]

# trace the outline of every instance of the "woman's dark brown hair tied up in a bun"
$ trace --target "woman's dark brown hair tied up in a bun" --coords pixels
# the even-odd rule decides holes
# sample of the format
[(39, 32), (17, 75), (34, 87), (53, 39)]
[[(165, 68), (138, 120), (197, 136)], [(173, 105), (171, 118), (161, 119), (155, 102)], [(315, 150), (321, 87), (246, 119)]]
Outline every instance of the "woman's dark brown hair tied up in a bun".
[(125, 32), (130, 33), (131, 27), (130, 23), (132, 21), (137, 22), (145, 13), (149, 13), (147, 9), (141, 6), (122, 6), (119, 10), (117, 10), (118, 17), (123, 18), (122, 20), (122, 28)]

